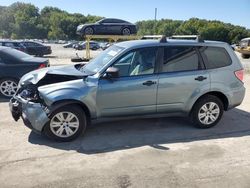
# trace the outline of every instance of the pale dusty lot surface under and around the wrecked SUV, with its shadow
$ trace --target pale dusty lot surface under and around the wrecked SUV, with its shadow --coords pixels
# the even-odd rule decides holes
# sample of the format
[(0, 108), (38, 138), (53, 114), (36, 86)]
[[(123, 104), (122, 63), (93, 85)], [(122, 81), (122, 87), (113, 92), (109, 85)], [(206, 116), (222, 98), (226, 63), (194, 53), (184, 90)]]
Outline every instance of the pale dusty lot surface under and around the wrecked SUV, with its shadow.
[[(66, 62), (73, 52), (61, 53)], [(243, 104), (211, 129), (196, 129), (183, 118), (116, 121), (94, 124), (71, 143), (50, 141), (16, 123), (2, 99), (0, 187), (248, 188), (250, 75), (245, 86)]]

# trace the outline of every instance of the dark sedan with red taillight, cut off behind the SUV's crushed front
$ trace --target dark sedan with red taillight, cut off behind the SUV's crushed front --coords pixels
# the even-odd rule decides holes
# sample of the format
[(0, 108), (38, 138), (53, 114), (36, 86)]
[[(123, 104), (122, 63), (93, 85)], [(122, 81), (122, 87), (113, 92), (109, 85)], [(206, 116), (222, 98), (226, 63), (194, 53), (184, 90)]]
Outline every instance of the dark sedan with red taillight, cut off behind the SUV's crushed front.
[(0, 47), (0, 95), (11, 97), (24, 74), (48, 66), (48, 59), (33, 57), (13, 48)]

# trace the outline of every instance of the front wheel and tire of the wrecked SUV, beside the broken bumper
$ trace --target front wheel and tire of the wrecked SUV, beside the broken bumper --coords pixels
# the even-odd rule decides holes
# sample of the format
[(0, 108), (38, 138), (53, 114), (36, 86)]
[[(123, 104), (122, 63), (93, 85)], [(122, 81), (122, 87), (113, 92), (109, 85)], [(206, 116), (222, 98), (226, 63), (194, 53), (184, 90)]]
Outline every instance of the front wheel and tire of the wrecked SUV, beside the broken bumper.
[(48, 138), (60, 142), (76, 139), (84, 133), (87, 126), (84, 111), (76, 105), (60, 107), (49, 118), (50, 121), (45, 125), (43, 133)]

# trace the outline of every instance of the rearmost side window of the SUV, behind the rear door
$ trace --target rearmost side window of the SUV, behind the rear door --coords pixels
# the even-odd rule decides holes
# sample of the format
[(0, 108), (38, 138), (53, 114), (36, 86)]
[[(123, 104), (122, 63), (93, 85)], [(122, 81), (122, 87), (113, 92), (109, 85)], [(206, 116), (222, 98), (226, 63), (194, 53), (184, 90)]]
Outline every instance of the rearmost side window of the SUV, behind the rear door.
[(202, 47), (200, 52), (207, 69), (220, 68), (232, 64), (232, 60), (224, 48)]

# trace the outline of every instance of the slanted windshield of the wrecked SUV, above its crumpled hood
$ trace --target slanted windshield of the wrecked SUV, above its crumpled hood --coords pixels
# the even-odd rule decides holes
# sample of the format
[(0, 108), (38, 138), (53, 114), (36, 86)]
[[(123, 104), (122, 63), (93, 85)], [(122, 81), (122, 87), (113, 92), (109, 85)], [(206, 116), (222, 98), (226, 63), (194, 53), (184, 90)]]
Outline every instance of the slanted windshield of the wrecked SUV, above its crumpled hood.
[(108, 62), (117, 56), (123, 49), (124, 48), (116, 45), (109, 47), (96, 58), (92, 59), (87, 65), (83, 66), (80, 71), (92, 74), (99, 72), (102, 67), (106, 66)]

